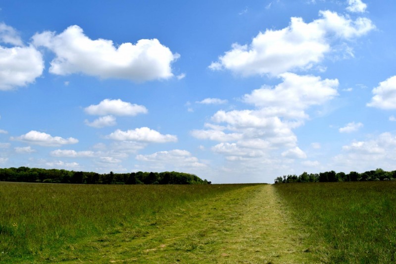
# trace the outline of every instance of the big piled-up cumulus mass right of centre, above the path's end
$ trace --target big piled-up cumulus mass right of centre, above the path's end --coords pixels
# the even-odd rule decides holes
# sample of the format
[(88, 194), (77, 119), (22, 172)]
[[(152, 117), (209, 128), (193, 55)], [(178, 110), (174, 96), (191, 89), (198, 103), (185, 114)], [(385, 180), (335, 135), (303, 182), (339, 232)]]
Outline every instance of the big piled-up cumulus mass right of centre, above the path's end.
[[(243, 96), (255, 109), (219, 110), (206, 129), (191, 131), (198, 139), (218, 141), (211, 151), (229, 161), (255, 160), (248, 164), (266, 166), (265, 160), (307, 158), (297, 146), (293, 129), (301, 126), (312, 106), (323, 105), (338, 95), (337, 79), (284, 73), (275, 87), (263, 86)], [(314, 144), (315, 148), (320, 145)], [(255, 165), (256, 164), (256, 165)]]

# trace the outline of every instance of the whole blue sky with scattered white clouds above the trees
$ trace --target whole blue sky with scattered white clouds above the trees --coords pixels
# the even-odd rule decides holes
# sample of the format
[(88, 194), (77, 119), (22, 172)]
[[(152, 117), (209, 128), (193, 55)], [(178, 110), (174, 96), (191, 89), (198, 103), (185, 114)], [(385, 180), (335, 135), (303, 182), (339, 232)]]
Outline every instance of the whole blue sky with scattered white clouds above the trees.
[(396, 169), (394, 0), (2, 0), (0, 167)]

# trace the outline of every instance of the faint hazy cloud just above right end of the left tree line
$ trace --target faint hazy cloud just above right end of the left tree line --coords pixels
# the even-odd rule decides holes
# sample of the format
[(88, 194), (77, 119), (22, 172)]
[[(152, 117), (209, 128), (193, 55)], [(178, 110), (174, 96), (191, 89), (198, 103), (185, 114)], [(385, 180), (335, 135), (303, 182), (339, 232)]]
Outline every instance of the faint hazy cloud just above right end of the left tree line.
[(206, 164), (199, 162), (185, 150), (160, 151), (150, 155), (137, 155), (139, 161), (153, 163), (154, 168), (171, 170), (174, 168), (202, 168)]

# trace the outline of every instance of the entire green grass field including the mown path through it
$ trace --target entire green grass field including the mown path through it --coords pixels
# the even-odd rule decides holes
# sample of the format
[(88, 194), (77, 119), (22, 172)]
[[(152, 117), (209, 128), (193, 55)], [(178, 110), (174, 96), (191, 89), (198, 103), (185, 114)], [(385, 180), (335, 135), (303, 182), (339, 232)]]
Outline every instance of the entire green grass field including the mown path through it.
[(0, 182), (0, 263), (392, 263), (396, 182)]

